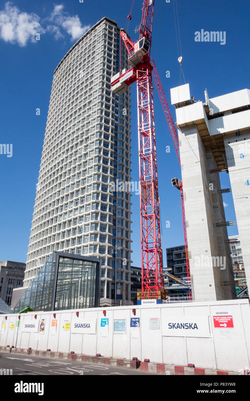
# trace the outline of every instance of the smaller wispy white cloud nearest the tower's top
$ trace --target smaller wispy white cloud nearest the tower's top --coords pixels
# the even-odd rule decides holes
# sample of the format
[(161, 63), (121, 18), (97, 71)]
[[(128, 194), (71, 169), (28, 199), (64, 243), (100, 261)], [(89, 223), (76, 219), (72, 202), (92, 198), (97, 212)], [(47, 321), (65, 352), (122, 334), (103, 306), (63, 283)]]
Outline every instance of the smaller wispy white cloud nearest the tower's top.
[[(48, 29), (51, 32), (56, 32), (56, 39), (63, 36), (60, 28), (63, 28), (63, 30), (71, 36), (72, 40), (79, 39), (90, 28), (90, 25), (82, 26), (78, 15), (70, 16), (68, 12), (64, 11), (62, 4), (54, 6), (54, 10), (47, 20), (52, 23), (52, 25), (48, 26)], [(51, 28), (51, 26), (53, 28)], [(57, 29), (55, 29), (55, 27), (57, 27)]]

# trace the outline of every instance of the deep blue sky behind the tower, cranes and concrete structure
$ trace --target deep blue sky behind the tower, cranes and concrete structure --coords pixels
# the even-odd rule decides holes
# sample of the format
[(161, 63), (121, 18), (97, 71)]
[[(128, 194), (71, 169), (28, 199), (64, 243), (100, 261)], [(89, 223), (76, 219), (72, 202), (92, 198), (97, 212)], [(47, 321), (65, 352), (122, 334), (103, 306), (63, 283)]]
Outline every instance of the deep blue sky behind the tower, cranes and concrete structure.
[[(0, 155), (0, 259), (26, 262), (36, 184), (53, 71), (79, 37), (102, 17), (107, 16), (124, 27), (132, 0), (58, 1), (34, 0), (1, 2), (0, 5), (0, 143), (12, 144), (12, 157)], [(55, 8), (56, 7), (56, 8)], [(141, 20), (142, 0), (136, 0), (128, 33), (137, 39), (135, 26)], [(248, 0), (177, 1), (183, 71), (191, 95), (196, 100), (230, 93), (250, 85), (248, 72), (249, 11)], [(55, 10), (57, 14), (55, 15)], [(226, 44), (195, 42), (195, 31), (226, 31)], [(35, 34), (40, 33), (40, 41)], [(154, 59), (170, 105), (170, 88), (179, 85), (173, 0), (155, 0), (151, 56)], [(170, 78), (166, 78), (166, 71)], [(183, 83), (183, 81), (182, 81)], [(138, 144), (136, 85), (132, 91), (132, 180), (138, 180)], [(184, 243), (181, 199), (171, 178), (180, 177), (166, 120), (157, 92), (154, 91), (157, 163), (162, 223), (162, 249)], [(36, 115), (36, 109), (41, 115)], [(171, 113), (175, 121), (175, 109)], [(166, 153), (166, 146), (171, 146)], [(229, 188), (228, 174), (221, 173), (222, 188)], [(224, 194), (226, 220), (235, 220), (232, 193)], [(139, 197), (132, 196), (132, 260), (140, 266)], [(165, 222), (170, 221), (170, 227)], [(237, 226), (229, 235), (238, 234)]]

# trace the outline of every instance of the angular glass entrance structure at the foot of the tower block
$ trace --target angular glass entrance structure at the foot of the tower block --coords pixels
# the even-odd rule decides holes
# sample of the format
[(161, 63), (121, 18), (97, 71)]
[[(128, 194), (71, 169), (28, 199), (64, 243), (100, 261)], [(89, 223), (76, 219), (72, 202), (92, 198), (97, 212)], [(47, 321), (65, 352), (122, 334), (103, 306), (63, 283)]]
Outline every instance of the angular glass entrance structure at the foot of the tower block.
[(27, 305), (35, 311), (97, 307), (99, 280), (98, 259), (53, 252), (13, 312), (19, 313)]

